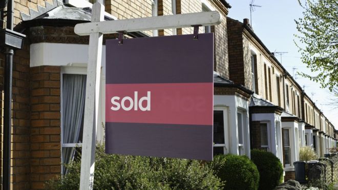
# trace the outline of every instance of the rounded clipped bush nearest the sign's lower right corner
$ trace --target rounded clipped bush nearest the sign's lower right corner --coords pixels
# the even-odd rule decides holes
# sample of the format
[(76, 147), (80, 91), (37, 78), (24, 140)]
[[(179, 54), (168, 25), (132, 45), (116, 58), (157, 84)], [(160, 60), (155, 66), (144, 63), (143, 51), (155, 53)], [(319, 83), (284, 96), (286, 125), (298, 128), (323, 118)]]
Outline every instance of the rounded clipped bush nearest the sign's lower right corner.
[(246, 156), (217, 155), (210, 163), (223, 182), (224, 189), (258, 189), (259, 173), (256, 165)]

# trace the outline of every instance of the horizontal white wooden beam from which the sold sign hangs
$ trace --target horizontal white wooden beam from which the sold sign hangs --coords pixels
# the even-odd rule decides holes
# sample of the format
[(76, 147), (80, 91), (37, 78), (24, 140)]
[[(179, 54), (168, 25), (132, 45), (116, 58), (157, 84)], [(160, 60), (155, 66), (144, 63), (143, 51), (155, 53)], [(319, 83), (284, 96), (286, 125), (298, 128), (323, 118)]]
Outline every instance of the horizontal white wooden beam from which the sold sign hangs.
[(218, 11), (132, 18), (124, 20), (108, 20), (104, 22), (82, 23), (75, 25), (74, 32), (85, 36), (91, 33), (117, 33), (118, 31), (136, 32), (144, 30), (159, 30), (171, 28), (185, 28), (192, 25), (219, 25), (222, 16)]

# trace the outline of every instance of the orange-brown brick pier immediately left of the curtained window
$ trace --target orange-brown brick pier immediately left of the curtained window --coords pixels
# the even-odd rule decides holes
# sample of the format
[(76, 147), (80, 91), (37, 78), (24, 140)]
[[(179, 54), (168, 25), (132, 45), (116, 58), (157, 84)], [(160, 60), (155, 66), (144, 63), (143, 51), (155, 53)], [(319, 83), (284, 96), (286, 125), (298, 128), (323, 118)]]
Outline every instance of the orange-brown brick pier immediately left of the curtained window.
[(60, 67), (31, 68), (31, 189), (60, 175)]

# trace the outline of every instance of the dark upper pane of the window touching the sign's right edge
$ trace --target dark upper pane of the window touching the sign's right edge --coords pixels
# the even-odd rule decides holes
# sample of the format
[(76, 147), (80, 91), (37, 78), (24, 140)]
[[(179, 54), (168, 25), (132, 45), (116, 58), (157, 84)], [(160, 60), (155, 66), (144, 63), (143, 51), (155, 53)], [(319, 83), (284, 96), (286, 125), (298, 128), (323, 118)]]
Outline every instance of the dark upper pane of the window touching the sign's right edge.
[(224, 117), (223, 111), (214, 111), (214, 143), (224, 144)]

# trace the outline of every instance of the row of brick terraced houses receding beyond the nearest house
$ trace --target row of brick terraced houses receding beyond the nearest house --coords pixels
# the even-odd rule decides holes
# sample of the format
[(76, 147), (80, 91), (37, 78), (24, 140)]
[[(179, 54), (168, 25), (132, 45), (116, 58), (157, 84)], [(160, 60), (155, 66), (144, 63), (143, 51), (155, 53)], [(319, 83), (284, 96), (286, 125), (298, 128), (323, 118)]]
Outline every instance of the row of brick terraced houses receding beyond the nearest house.
[[(294, 179), (299, 149), (311, 146), (321, 157), (335, 146), (334, 126), (252, 30), (227, 17), (229, 79), (254, 91), (249, 104), (250, 146), (276, 155), (285, 180)], [(320, 120), (321, 118), (321, 120)]]

